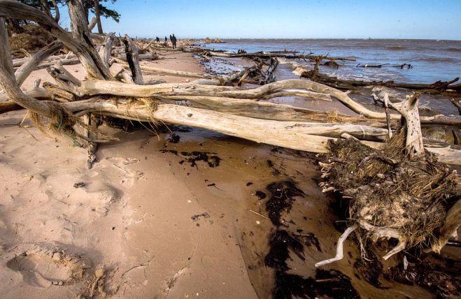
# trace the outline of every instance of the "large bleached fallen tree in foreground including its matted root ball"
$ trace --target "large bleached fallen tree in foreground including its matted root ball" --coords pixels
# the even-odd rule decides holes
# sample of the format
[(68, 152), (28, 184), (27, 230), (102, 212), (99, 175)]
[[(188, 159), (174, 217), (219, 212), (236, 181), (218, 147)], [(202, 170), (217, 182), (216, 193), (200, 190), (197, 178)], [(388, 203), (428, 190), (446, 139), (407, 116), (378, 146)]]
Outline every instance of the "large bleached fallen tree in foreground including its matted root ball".
[[(428, 238), (432, 249), (438, 251), (453, 230), (460, 226), (459, 204), (453, 204), (456, 209), (454, 211), (447, 210), (451, 205), (444, 205), (447, 198), (458, 196), (459, 199), (458, 178), (449, 168), (439, 163), (460, 163), (460, 151), (436, 147), (434, 152), (439, 161), (426, 153), (433, 151), (433, 148), (423, 146), (420, 122), (424, 118), (418, 114), (417, 94), (409, 96), (402, 103), (388, 103), (399, 112), (399, 115), (391, 115), (368, 110), (350, 99), (345, 92), (310, 80), (282, 80), (249, 89), (203, 85), (203, 81), (146, 85), (139, 66), (139, 52), (129, 36), (125, 36), (124, 40), (125, 54), (134, 84), (119, 82), (118, 77), (109, 71), (108, 56), (113, 44), (111, 37), (106, 36), (103, 48), (97, 52), (90, 38), (81, 1), (69, 1), (69, 15), (72, 22), (71, 35), (34, 8), (17, 1), (0, 1), (0, 36), (3, 41), (0, 46), (0, 84), (10, 100), (29, 110), (38, 129), (48, 128), (55, 133), (66, 133), (75, 140), (86, 142), (89, 168), (96, 159), (94, 151), (97, 143), (111, 140), (111, 136), (98, 129), (95, 117), (105, 115), (141, 122), (185, 124), (258, 143), (308, 152), (330, 152), (334, 161), (330, 159), (328, 163), (322, 164), (323, 177), (329, 177), (331, 181), (322, 184), (324, 191), (337, 189), (348, 196), (356, 196), (355, 204), (350, 206), (354, 224), (347, 234), (360, 227), (376, 240), (395, 238), (399, 241), (397, 247), (385, 258), (406, 247), (423, 244)], [(48, 99), (55, 101), (38, 101), (38, 92), (43, 92), (38, 87), (32, 92), (22, 92), (13, 72), (3, 17), (34, 20), (48, 29), (76, 54), (85, 68), (88, 80), (76, 79), (57, 64), (48, 68), (48, 73), (57, 85), (49, 82), (43, 85), (49, 95)], [(34, 64), (40, 60), (41, 57), (31, 59)], [(271, 78), (271, 75), (267, 77)], [(318, 96), (323, 100), (334, 98), (362, 115), (365, 121), (382, 126), (330, 124), (322, 113), (316, 115), (315, 112), (290, 108), (288, 105), (260, 102), (287, 94), (306, 98)], [(258, 116), (261, 112), (269, 112), (269, 116), (264, 116), (266, 119)], [(304, 115), (306, 119), (312, 115), (322, 115), (327, 122), (289, 121), (290, 114), (299, 117)], [(275, 120), (270, 117), (285, 119)], [(390, 143), (383, 143), (390, 133), (390, 126), (386, 126), (386, 122), (392, 120), (402, 121), (403, 129), (390, 139)], [(453, 117), (452, 120), (460, 124), (459, 117)], [(84, 133), (78, 133), (75, 126), (81, 126)], [(380, 187), (382, 182), (378, 180), (390, 184)], [(348, 186), (348, 182), (357, 184)], [(406, 184), (406, 187), (402, 187), (402, 184)], [(404, 190), (402, 194), (395, 196), (392, 193), (396, 187)], [(348, 191), (350, 189), (352, 191)], [(392, 203), (395, 205), (389, 205), (389, 200), (376, 199), (379, 190), (387, 190), (385, 198), (394, 200)], [(369, 203), (373, 196), (374, 202)], [(411, 206), (413, 210), (406, 206)], [(432, 210), (428, 210), (430, 213), (423, 217), (415, 214), (429, 208)], [(374, 218), (378, 212), (382, 213), (381, 222)], [(421, 225), (424, 229), (417, 229)], [(342, 246), (347, 234), (340, 239), (339, 245)]]

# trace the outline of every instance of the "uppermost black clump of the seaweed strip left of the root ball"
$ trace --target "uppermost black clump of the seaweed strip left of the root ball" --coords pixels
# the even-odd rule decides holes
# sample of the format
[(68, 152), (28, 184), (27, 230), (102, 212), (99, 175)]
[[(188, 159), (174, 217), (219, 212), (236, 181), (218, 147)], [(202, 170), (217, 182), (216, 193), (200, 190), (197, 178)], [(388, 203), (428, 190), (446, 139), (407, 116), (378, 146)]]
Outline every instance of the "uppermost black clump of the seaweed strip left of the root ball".
[(267, 186), (271, 194), (266, 203), (266, 210), (269, 213), (269, 219), (275, 226), (282, 226), (281, 213), (290, 212), (295, 201), (295, 196), (304, 196), (304, 192), (298, 189), (295, 183), (290, 181), (274, 182)]

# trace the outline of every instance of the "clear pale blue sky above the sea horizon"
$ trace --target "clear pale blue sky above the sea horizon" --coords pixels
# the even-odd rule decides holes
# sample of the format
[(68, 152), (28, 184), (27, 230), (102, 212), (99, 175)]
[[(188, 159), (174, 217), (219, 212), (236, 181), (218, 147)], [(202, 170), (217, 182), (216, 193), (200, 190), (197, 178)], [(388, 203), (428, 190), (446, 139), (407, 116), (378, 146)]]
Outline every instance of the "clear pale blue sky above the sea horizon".
[[(179, 38), (461, 40), (461, 0), (118, 0), (104, 31)], [(63, 25), (68, 26), (69, 17)]]

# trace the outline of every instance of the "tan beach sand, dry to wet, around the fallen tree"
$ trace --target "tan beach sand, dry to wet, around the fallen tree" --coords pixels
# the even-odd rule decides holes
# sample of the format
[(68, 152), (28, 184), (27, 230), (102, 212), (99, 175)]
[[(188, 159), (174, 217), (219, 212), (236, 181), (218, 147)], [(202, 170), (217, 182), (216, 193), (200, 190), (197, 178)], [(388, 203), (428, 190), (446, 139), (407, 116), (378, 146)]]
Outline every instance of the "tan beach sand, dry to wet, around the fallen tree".
[[(166, 58), (146, 64), (203, 71), (191, 54)], [(83, 79), (81, 66), (65, 67)], [(35, 78), (51, 80), (40, 70), (23, 87)], [(317, 187), (320, 171), (310, 154), (157, 126), (113, 130), (120, 141), (101, 145), (99, 162), (87, 170), (85, 149), (16, 126), (23, 117), (24, 110), (0, 115), (2, 298), (268, 298), (274, 271), (264, 256), (274, 226), (256, 191), (271, 182), (290, 180), (306, 194), (283, 223), (320, 243), (321, 251), (305, 247), (305, 261), (292, 254), (291, 272), (312, 276), (315, 262), (334, 256), (340, 233), (332, 226), (332, 198)], [(219, 166), (193, 166), (193, 151), (219, 156)], [(374, 288), (352, 266), (360, 250), (351, 242), (345, 248), (346, 258), (327, 269), (350, 277), (362, 297), (433, 296), (420, 286)]]

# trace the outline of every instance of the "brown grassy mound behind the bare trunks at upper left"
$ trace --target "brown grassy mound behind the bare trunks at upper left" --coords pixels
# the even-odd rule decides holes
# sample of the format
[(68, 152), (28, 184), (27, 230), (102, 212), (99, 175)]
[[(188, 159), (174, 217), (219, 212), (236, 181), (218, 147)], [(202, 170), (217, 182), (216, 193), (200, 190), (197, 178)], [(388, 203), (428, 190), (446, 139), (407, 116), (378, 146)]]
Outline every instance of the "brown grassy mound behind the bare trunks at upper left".
[(22, 34), (13, 34), (9, 38), (10, 50), (36, 50), (45, 47), (56, 38), (47, 30), (34, 24), (22, 27)]

